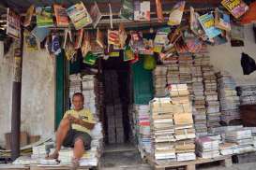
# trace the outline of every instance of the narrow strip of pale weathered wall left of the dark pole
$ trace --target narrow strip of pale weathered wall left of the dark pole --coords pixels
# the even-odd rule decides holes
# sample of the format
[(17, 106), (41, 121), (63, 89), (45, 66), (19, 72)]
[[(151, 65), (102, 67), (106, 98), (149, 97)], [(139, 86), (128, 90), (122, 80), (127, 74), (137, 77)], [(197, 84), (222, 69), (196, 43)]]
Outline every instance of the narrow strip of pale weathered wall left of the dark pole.
[(0, 41), (0, 146), (5, 144), (5, 133), (10, 132), (12, 61), (13, 50), (4, 56), (4, 44)]

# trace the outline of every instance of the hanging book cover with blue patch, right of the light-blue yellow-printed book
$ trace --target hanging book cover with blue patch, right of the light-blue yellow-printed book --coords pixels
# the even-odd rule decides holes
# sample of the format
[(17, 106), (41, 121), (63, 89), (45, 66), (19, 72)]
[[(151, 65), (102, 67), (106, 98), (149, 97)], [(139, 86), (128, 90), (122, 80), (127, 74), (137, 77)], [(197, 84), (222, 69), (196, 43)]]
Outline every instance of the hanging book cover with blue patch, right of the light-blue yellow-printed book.
[(231, 31), (230, 15), (219, 10), (218, 7), (215, 9), (215, 26), (221, 30)]

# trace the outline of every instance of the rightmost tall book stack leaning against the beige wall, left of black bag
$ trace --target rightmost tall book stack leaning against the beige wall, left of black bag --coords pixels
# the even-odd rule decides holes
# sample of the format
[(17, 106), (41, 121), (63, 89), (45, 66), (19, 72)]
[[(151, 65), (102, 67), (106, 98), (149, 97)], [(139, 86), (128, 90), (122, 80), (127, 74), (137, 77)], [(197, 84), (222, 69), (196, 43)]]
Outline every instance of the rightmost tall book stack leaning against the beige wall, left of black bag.
[(239, 97), (235, 91), (234, 79), (228, 72), (218, 72), (218, 99), (220, 103), (221, 121), (230, 124), (240, 120)]

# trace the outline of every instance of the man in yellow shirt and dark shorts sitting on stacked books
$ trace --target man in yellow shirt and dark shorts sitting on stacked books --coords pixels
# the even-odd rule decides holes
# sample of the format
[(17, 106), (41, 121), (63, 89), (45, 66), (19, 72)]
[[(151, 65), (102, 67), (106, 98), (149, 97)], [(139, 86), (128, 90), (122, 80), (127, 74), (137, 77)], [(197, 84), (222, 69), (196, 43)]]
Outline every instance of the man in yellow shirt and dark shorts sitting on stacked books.
[(79, 165), (85, 149), (90, 149), (90, 131), (94, 128), (95, 120), (91, 112), (83, 108), (83, 93), (76, 92), (72, 97), (74, 109), (68, 110), (61, 120), (56, 132), (56, 149), (49, 159), (57, 159), (61, 146), (73, 149), (72, 163)]

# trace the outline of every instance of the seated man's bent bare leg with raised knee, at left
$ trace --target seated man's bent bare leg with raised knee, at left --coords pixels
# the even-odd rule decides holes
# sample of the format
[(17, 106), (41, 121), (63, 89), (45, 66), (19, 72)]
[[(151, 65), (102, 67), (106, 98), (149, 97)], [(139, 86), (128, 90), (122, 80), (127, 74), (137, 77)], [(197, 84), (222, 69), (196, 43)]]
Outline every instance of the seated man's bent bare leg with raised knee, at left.
[(70, 121), (68, 118), (60, 121), (58, 130), (56, 132), (56, 149), (52, 155), (49, 156), (51, 159), (57, 159), (59, 150), (61, 149), (62, 143), (68, 134), (68, 130), (70, 128)]

